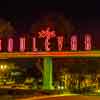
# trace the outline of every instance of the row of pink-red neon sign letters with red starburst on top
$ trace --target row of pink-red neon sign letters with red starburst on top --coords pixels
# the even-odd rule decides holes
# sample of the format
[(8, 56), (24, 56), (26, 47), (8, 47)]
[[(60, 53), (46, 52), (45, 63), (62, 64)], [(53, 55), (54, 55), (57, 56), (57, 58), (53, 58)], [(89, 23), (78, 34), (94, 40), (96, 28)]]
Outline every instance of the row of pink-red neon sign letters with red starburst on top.
[[(31, 51), (35, 51), (35, 52), (39, 52), (39, 49), (37, 46), (37, 41), (39, 41), (40, 39), (43, 39), (44, 42), (40, 43), (39, 45), (44, 46), (45, 51), (53, 51), (52, 50), (52, 42), (51, 39), (56, 40), (56, 46), (57, 46), (57, 50), (58, 51), (63, 51), (64, 48), (64, 42), (65, 42), (65, 38), (64, 36), (57, 36), (55, 31), (50, 31), (50, 28), (47, 28), (46, 30), (41, 30), (40, 32), (38, 32), (38, 37), (31, 37)], [(19, 41), (19, 48), (18, 50), (20, 52), (27, 52), (27, 38), (26, 37), (20, 37), (19, 39), (17, 39)], [(2, 44), (3, 41), (2, 39), (0, 39), (0, 51), (2, 51)], [(14, 45), (16, 45), (15, 40), (10, 37), (8, 38), (8, 42), (7, 42), (7, 51), (8, 52), (14, 52)], [(30, 45), (30, 44), (27, 44)], [(84, 41), (82, 43), (82, 45), (84, 45), (84, 49), (83, 50), (91, 50), (92, 49), (92, 37), (90, 34), (85, 34), (84, 35)], [(54, 48), (54, 47), (53, 47)], [(70, 38), (70, 49), (72, 51), (77, 51), (78, 50), (78, 36), (76, 35), (72, 35)], [(29, 52), (29, 51), (28, 51)]]

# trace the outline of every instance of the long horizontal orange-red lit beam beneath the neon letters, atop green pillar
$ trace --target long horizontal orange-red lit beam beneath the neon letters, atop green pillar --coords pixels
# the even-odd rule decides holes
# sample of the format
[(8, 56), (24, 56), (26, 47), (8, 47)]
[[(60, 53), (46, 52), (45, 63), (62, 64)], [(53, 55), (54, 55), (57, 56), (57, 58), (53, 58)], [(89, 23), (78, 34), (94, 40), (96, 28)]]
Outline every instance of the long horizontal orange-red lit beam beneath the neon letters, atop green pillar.
[(100, 57), (100, 51), (65, 51), (65, 52), (1, 52), (0, 59), (33, 57)]

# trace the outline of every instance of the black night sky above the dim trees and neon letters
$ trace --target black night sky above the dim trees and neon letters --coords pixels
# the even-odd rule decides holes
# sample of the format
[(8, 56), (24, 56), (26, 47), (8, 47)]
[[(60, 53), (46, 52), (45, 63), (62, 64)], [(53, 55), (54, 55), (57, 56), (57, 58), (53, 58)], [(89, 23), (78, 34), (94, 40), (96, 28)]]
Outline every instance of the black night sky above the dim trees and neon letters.
[[(34, 23), (49, 11), (62, 12), (80, 26), (81, 32), (92, 32), (97, 48), (100, 47), (100, 6), (99, 0), (0, 0), (0, 17), (10, 20), (23, 28)], [(97, 44), (98, 43), (98, 44)]]

